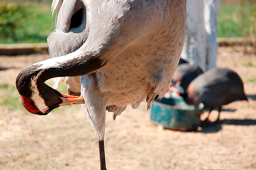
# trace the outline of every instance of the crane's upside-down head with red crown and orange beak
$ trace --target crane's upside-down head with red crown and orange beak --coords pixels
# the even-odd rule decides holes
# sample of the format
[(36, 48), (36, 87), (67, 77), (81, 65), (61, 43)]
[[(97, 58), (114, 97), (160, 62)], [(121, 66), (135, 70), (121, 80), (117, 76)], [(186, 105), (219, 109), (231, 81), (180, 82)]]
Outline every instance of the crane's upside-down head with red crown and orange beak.
[(64, 95), (46, 85), (44, 81), (51, 75), (45, 72), (47, 69), (38, 68), (40, 68), (38, 65), (29, 66), (16, 78), (16, 88), (27, 111), (32, 114), (47, 115), (60, 106), (84, 103), (83, 97)]

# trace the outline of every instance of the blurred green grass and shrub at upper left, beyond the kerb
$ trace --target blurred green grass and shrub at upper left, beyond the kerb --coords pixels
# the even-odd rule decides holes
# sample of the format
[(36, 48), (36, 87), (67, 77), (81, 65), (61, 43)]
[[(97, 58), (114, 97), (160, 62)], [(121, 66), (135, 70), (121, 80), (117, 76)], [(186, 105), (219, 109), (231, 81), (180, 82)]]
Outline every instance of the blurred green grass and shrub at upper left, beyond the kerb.
[(46, 42), (55, 28), (50, 4), (0, 3), (0, 44)]

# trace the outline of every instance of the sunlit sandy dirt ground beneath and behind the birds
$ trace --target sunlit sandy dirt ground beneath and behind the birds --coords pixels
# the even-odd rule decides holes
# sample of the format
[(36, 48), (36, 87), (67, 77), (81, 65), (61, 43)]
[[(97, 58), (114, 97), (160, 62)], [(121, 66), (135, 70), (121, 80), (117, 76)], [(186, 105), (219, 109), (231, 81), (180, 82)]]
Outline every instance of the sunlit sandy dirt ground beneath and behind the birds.
[[(221, 123), (200, 131), (160, 130), (149, 119), (146, 103), (130, 106), (112, 119), (106, 113), (108, 170), (256, 170), (256, 55), (243, 48), (220, 48), (218, 67), (236, 71), (249, 101), (225, 105)], [(26, 66), (48, 54), (0, 56), (0, 84), (13, 84)], [(2, 96), (3, 97), (3, 96)], [(1, 170), (98, 170), (96, 135), (80, 106), (47, 116), (0, 106)], [(217, 118), (213, 111), (210, 120)], [(202, 115), (206, 116), (206, 112)]]

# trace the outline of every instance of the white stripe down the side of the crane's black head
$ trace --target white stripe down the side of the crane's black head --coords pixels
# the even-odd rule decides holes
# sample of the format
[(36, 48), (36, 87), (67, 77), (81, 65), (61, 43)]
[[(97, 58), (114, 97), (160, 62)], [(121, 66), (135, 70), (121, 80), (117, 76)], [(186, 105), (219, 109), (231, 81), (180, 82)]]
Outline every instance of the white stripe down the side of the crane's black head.
[(48, 109), (48, 107), (45, 105), (44, 99), (39, 94), (39, 91), (38, 91), (37, 86), (36, 86), (36, 81), (37, 81), (38, 77), (40, 76), (40, 74), (41, 74), (41, 72), (31, 78), (31, 85), (30, 85), (31, 87), (30, 87), (30, 89), (32, 90), (32, 100), (36, 101), (36, 103), (34, 103), (35, 106), (42, 113), (44, 113)]

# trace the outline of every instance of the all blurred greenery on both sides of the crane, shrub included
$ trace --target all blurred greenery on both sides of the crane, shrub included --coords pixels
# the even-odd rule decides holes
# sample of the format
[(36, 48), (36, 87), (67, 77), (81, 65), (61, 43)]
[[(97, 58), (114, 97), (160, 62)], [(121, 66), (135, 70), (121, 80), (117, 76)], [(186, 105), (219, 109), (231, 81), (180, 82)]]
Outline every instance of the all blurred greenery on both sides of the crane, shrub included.
[[(0, 44), (41, 43), (55, 28), (49, 3), (0, 3)], [(55, 16), (55, 15), (54, 15)], [(221, 4), (218, 37), (256, 36), (256, 0)]]

